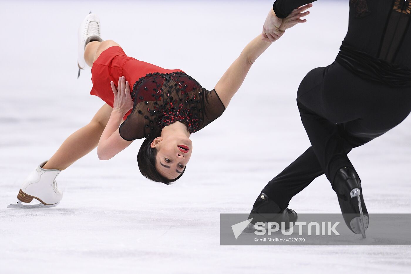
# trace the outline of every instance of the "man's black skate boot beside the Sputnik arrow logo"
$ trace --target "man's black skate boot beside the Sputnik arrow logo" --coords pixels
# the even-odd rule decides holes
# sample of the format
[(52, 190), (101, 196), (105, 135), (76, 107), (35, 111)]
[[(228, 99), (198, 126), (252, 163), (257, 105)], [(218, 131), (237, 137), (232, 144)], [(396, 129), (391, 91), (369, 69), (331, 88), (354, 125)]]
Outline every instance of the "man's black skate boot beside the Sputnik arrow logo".
[[(254, 202), (253, 209), (250, 212), (249, 218), (254, 218), (251, 223), (254, 225), (257, 222), (275, 222), (280, 225), (280, 229), (289, 229), (290, 224), (294, 226), (297, 221), (296, 211), (286, 208), (281, 209), (274, 201), (265, 193), (261, 193)], [(281, 223), (284, 222), (284, 228)]]

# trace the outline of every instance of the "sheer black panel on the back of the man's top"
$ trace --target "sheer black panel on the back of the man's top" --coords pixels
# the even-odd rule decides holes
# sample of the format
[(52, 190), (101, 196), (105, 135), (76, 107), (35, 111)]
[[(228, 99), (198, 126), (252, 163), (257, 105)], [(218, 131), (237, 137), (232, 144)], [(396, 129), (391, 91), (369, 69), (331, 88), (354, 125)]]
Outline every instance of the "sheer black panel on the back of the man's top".
[(411, 0), (394, 0), (383, 32), (378, 58), (393, 62), (411, 22)]

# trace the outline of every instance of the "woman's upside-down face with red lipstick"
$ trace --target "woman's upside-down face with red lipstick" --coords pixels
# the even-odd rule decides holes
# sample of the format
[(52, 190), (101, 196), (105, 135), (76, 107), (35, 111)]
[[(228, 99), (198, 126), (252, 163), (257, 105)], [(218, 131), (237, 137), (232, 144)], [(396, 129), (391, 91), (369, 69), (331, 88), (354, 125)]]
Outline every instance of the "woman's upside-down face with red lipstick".
[(157, 137), (151, 143), (157, 148), (156, 169), (167, 179), (175, 179), (183, 172), (190, 160), (193, 143), (185, 136)]

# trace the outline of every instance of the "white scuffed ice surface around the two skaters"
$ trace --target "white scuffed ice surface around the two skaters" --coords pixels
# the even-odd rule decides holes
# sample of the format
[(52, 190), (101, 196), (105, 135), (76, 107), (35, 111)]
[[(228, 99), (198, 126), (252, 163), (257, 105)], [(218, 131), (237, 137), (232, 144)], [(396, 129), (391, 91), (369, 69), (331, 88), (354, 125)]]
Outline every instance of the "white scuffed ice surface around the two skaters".
[[(2, 1), (0, 273), (409, 270), (409, 246), (219, 245), (219, 214), (249, 212), (263, 186), (309, 146), (296, 90), (309, 70), (334, 60), (346, 33), (348, 0), (315, 2), (307, 23), (287, 30), (256, 61), (222, 117), (192, 136), (194, 155), (173, 186), (139, 174), (136, 141), (112, 160), (99, 161), (92, 151), (63, 171), (57, 207), (6, 208), (16, 202), (25, 176), (103, 104), (88, 94), (90, 70), (76, 79), (77, 28), (90, 10), (102, 21), (103, 39), (115, 40), (129, 56), (181, 68), (212, 89), (261, 31), (271, 5)], [(250, 101), (255, 109), (245, 111)], [(407, 118), (349, 155), (369, 212), (411, 212), (410, 127)], [(290, 207), (339, 212), (324, 176)]]

